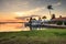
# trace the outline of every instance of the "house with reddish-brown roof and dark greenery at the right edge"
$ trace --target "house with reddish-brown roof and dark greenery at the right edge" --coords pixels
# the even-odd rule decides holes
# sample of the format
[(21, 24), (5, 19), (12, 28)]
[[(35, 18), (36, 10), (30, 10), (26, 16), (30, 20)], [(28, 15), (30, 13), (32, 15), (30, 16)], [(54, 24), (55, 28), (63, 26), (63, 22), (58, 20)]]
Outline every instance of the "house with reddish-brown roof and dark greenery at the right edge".
[(55, 18), (51, 20), (52, 23), (57, 24), (57, 25), (66, 25), (66, 16), (64, 18)]

